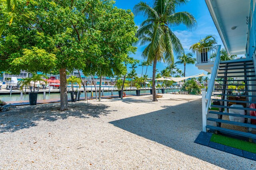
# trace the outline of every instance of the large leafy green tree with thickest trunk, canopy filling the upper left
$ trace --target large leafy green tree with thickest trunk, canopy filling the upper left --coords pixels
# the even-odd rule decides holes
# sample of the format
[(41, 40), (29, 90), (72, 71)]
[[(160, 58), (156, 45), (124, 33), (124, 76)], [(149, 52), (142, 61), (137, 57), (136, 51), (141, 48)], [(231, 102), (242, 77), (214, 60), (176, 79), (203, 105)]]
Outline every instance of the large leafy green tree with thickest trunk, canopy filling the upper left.
[[(18, 73), (22, 69), (47, 73), (58, 70), (60, 109), (68, 109), (67, 70), (80, 70), (90, 63), (96, 68), (102, 67), (106, 61), (102, 56), (115, 56), (112, 71), (122, 72), (122, 61), (129, 52), (136, 50), (130, 45), (136, 41), (133, 15), (114, 8), (113, 4), (112, 0), (37, 0), (30, 1), (26, 7), (26, 1), (18, 1), (14, 23), (4, 31), (0, 40), (0, 56), (4, 61), (0, 65), (1, 71)], [(10, 17), (6, 4), (1, 2), (0, 5), (1, 15)], [(133, 32), (128, 26), (120, 28), (125, 24), (132, 25)], [(108, 36), (105, 31), (108, 31)]]

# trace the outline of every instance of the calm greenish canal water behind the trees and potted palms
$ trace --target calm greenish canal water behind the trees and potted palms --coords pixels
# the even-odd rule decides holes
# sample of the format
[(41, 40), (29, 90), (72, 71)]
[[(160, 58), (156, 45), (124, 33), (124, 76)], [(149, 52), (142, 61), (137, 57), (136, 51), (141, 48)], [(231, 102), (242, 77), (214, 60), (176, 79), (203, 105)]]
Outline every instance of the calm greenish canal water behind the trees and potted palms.
[[(176, 89), (169, 89), (169, 90), (165, 90), (165, 92), (177, 92), (178, 90)], [(124, 91), (126, 92), (126, 94), (136, 94), (135, 90), (132, 91)], [(161, 92), (161, 90), (159, 90), (159, 92)], [(149, 90), (141, 90), (140, 93), (150, 93)], [(118, 91), (114, 91), (113, 92), (114, 95), (118, 95)], [(111, 91), (109, 92), (104, 92), (104, 96), (110, 96), (111, 95)], [(88, 92), (88, 97), (91, 96), (91, 92)], [(95, 92), (93, 92), (93, 96), (95, 96)], [(81, 94), (80, 97), (84, 97), (84, 93)], [(47, 93), (46, 92), (46, 99), (59, 99), (60, 98), (60, 94), (59, 93)], [(70, 94), (68, 94), (68, 98), (70, 98)], [(44, 99), (44, 94), (38, 94), (38, 100), (43, 100)], [(3, 100), (4, 102), (10, 102), (10, 101), (20, 101), (20, 94), (12, 94), (12, 96), (10, 95), (0, 95), (0, 100)], [(28, 99), (28, 94), (24, 94), (22, 100), (29, 100)]]

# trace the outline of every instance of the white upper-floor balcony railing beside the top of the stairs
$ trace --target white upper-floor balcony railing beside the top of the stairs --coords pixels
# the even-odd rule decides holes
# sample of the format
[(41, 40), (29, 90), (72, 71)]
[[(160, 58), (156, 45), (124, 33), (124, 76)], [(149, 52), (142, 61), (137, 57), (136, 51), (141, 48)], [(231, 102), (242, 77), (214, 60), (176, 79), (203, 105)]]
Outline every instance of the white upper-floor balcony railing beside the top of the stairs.
[(197, 64), (214, 62), (219, 46), (205, 47), (196, 51)]

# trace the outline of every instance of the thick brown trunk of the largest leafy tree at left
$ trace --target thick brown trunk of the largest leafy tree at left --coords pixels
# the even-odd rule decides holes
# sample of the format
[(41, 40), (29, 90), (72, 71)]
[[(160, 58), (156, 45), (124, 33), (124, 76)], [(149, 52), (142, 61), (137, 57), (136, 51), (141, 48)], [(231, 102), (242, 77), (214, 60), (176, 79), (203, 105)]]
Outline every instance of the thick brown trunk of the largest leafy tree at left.
[[(50, 88), (50, 87), (49, 87)], [(66, 68), (60, 69), (60, 110), (68, 109)]]

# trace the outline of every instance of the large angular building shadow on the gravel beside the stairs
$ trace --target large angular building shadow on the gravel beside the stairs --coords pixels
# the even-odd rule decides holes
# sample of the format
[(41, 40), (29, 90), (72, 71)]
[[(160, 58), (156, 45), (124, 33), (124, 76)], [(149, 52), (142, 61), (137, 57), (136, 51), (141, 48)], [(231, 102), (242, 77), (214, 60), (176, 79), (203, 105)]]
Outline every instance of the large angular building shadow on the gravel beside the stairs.
[[(222, 168), (244, 169), (249, 167), (246, 164), (247, 161), (243, 161), (245, 158), (194, 143), (202, 131), (201, 99), (176, 106), (163, 106), (163, 109), (158, 111), (109, 123)], [(231, 162), (240, 162), (240, 166), (233, 165)], [(255, 162), (251, 161), (251, 163), (254, 164), (252, 168), (255, 168)]]

